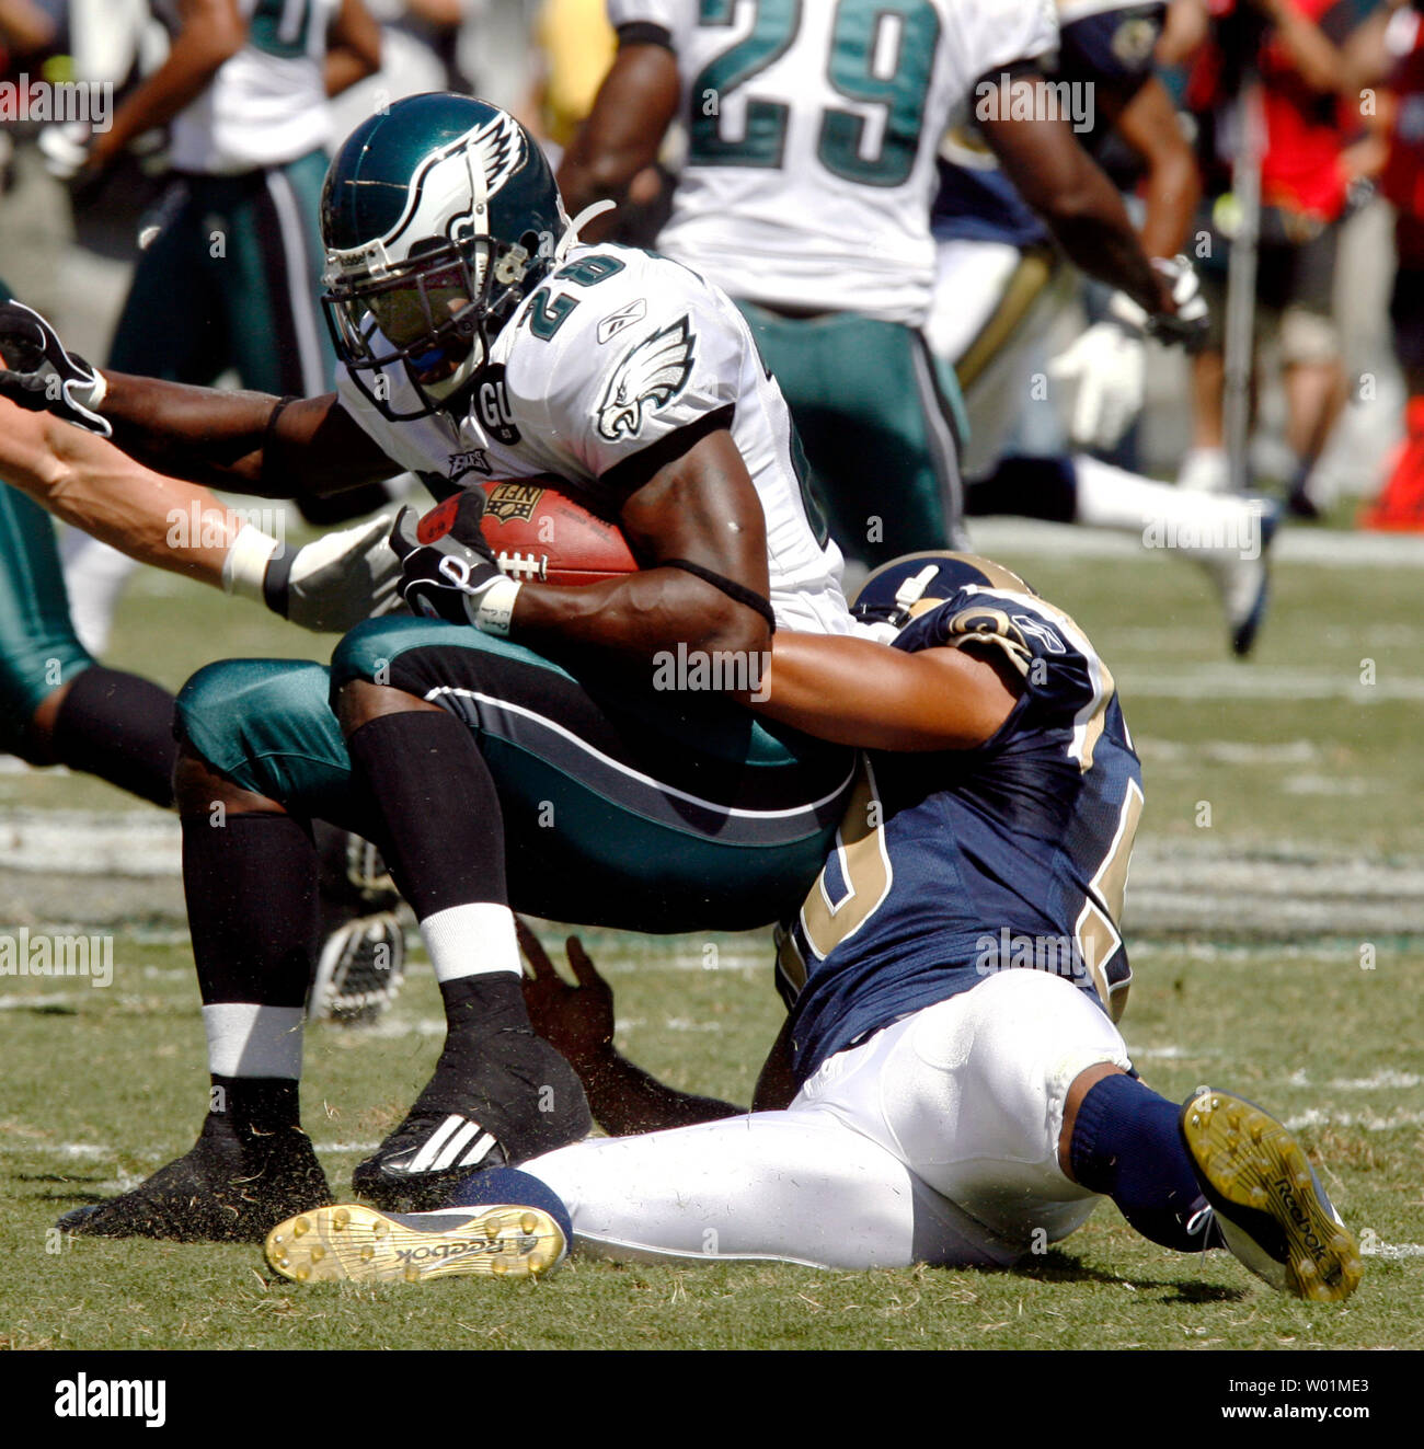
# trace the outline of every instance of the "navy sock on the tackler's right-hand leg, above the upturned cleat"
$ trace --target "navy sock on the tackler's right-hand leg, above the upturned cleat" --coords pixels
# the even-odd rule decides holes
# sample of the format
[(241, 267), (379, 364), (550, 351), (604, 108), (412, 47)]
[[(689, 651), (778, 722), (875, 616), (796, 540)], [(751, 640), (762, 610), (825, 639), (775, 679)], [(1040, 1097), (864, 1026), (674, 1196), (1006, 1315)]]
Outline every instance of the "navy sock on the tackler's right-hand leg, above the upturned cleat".
[(1143, 1237), (1199, 1253), (1217, 1246), (1211, 1208), (1178, 1130), (1181, 1107), (1133, 1077), (1104, 1077), (1073, 1123), (1073, 1177), (1105, 1193)]

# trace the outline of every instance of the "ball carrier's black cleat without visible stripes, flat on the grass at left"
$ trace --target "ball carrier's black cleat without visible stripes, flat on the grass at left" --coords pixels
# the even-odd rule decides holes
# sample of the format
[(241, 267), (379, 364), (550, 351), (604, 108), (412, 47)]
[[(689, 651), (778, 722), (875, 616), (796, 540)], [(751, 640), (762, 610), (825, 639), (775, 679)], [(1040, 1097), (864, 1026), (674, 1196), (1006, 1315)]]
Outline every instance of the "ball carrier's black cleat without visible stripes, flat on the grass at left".
[(84, 1237), (259, 1243), (284, 1219), (330, 1201), (300, 1127), (239, 1135), (229, 1117), (209, 1113), (191, 1152), (122, 1197), (65, 1213), (58, 1226)]

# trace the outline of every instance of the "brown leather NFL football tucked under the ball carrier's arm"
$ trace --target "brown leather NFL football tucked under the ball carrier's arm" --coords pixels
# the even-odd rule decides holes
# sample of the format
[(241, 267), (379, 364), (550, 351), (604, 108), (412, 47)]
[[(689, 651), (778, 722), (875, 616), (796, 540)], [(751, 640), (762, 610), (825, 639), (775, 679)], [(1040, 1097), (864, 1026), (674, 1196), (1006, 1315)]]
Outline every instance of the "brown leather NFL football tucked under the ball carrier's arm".
[(485, 540), (510, 578), (597, 584), (637, 571), (621, 530), (575, 501), (558, 478), (481, 484)]

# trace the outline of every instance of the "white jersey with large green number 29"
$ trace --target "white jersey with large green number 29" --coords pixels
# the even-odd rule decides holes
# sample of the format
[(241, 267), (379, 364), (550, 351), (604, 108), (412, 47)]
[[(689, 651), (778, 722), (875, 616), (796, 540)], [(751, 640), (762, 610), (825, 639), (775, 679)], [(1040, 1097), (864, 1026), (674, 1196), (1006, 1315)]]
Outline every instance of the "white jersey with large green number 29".
[(608, 0), (672, 39), (687, 164), (658, 246), (733, 297), (918, 326), (934, 154), (987, 72), (1050, 51), (1053, 0)]

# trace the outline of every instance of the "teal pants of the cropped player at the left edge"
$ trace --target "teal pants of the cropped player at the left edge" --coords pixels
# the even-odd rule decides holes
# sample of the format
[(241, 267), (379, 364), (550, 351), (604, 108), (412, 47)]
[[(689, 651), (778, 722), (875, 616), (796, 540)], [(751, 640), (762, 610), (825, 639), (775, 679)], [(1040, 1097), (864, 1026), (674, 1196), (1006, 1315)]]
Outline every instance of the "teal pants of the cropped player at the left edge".
[(0, 484), (0, 751), (29, 758), (35, 711), (93, 662), (70, 622), (54, 519)]

